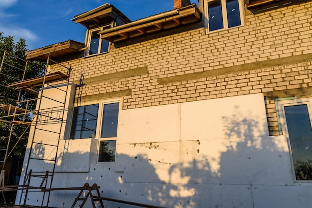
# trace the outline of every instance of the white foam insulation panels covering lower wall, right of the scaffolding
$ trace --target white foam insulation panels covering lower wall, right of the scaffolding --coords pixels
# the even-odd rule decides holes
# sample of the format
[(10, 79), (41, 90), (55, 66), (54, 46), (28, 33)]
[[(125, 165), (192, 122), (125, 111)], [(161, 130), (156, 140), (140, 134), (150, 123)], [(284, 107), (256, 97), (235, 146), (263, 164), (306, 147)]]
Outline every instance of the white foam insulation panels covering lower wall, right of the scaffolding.
[[(312, 186), (294, 183), (264, 103), (260, 93), (121, 110), (116, 162), (96, 162), (95, 139), (65, 141), (53, 187), (96, 183), (102, 196), (166, 208), (311, 207)], [(52, 192), (49, 206), (71, 207), (78, 192)]]

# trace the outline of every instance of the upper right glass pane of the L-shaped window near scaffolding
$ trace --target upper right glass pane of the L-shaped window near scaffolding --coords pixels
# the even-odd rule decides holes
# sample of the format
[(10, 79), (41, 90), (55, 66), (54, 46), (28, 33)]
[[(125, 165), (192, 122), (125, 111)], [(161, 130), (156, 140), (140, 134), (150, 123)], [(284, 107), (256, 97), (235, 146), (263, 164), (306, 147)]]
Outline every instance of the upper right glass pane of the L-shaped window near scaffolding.
[(104, 105), (101, 138), (117, 137), (119, 103)]

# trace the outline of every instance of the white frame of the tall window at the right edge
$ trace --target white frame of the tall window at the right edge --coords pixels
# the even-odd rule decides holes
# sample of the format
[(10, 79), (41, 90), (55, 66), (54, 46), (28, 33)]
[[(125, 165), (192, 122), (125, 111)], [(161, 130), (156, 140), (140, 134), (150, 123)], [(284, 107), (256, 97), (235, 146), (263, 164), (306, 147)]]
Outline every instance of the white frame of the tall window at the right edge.
[(296, 179), (296, 173), (295, 173), (295, 166), (292, 156), (292, 148), (291, 148), (291, 142), (288, 134), (288, 128), (287, 128), (287, 122), (286, 122), (286, 115), (284, 107), (286, 106), (296, 106), (296, 105), (307, 105), (309, 117), (310, 117), (310, 123), (312, 125), (312, 98), (300, 98), (300, 99), (289, 99), (289, 100), (279, 100), (277, 101), (278, 104), (278, 114), (279, 114), (279, 122), (281, 124), (281, 128), (283, 131), (283, 134), (287, 137), (287, 143), (289, 148), (289, 155), (290, 155), (290, 161), (292, 165), (292, 172), (293, 172), (293, 179), (294, 182), (297, 183), (311, 183), (311, 180), (297, 180)]

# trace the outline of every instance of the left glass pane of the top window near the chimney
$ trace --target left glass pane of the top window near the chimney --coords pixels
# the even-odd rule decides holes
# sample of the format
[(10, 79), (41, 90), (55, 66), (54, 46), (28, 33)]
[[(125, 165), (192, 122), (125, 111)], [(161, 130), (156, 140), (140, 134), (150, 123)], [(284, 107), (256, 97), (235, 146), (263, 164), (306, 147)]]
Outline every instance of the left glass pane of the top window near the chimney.
[(222, 6), (220, 0), (208, 2), (209, 31), (223, 28)]

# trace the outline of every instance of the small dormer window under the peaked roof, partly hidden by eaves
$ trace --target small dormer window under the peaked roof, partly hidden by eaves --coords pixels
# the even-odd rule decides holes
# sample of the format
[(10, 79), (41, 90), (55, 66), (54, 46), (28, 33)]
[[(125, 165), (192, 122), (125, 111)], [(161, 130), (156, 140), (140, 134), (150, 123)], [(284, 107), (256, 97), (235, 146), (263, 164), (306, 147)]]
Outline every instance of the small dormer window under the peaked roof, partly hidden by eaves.
[(98, 54), (108, 52), (109, 50), (109, 41), (100, 39), (100, 35), (98, 32), (103, 29), (110, 28), (111, 26), (104, 26), (96, 29), (92, 29), (89, 31), (88, 38), (88, 55)]

